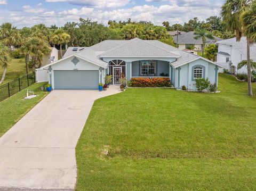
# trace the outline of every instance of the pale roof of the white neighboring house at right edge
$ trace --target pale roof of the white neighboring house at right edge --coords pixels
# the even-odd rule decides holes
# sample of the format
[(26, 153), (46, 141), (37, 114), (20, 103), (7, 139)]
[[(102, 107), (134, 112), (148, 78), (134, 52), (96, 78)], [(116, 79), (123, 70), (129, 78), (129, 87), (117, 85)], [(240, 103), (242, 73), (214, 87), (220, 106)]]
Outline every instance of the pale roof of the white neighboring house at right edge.
[[(226, 40), (217, 41), (216, 44), (232, 45), (238, 49), (245, 57), (247, 56), (247, 41), (246, 37), (242, 37), (240, 41), (236, 41), (236, 38), (229, 38)], [(256, 44), (251, 45), (250, 56), (253, 61), (256, 61)]]

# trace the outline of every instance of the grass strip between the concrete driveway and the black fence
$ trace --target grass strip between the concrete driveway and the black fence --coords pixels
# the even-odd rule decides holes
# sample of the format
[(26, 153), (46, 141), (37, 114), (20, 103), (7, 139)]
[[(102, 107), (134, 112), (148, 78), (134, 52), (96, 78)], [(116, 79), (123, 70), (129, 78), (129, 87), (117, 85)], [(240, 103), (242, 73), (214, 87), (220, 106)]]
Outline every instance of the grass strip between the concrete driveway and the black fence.
[[(41, 90), (41, 86), (42, 83), (31, 85), (0, 102), (0, 137), (47, 95), (47, 92)], [(34, 91), (37, 97), (23, 99), (27, 89)]]

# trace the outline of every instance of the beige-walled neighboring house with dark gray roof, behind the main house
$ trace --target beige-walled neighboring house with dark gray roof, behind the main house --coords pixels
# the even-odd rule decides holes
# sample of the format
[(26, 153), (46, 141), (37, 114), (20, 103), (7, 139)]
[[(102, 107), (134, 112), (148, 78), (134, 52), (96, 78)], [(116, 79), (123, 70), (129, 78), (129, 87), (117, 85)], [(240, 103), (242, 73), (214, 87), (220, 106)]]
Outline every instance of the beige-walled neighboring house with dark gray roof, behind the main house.
[[(202, 51), (203, 40), (202, 38), (195, 39), (196, 35), (194, 35), (194, 31), (187, 32), (186, 34), (179, 35), (178, 43), (177, 38), (173, 38), (174, 42), (178, 44), (179, 49), (188, 49), (191, 46), (194, 46), (194, 51)], [(214, 44), (219, 40), (222, 40), (219, 37), (215, 37), (215, 39), (206, 39), (206, 45)]]

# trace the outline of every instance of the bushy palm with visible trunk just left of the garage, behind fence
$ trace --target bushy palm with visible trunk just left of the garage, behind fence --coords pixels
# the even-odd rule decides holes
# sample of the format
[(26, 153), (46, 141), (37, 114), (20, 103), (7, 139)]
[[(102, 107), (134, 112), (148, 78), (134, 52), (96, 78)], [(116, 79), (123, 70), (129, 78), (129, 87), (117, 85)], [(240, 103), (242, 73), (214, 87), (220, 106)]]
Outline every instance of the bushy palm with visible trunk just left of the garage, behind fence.
[(37, 64), (41, 67), (43, 56), (51, 52), (49, 44), (37, 37), (29, 37), (21, 46), (21, 53), (25, 56), (26, 72), (28, 73), (29, 62), (33, 67)]

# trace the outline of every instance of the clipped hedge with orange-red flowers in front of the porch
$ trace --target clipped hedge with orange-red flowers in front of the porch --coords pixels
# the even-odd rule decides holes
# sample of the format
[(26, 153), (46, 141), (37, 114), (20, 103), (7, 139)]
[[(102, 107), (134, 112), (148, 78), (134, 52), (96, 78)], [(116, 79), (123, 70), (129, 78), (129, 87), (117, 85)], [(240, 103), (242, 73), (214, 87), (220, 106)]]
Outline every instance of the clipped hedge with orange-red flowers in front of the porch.
[(170, 87), (170, 78), (132, 78), (131, 87)]

